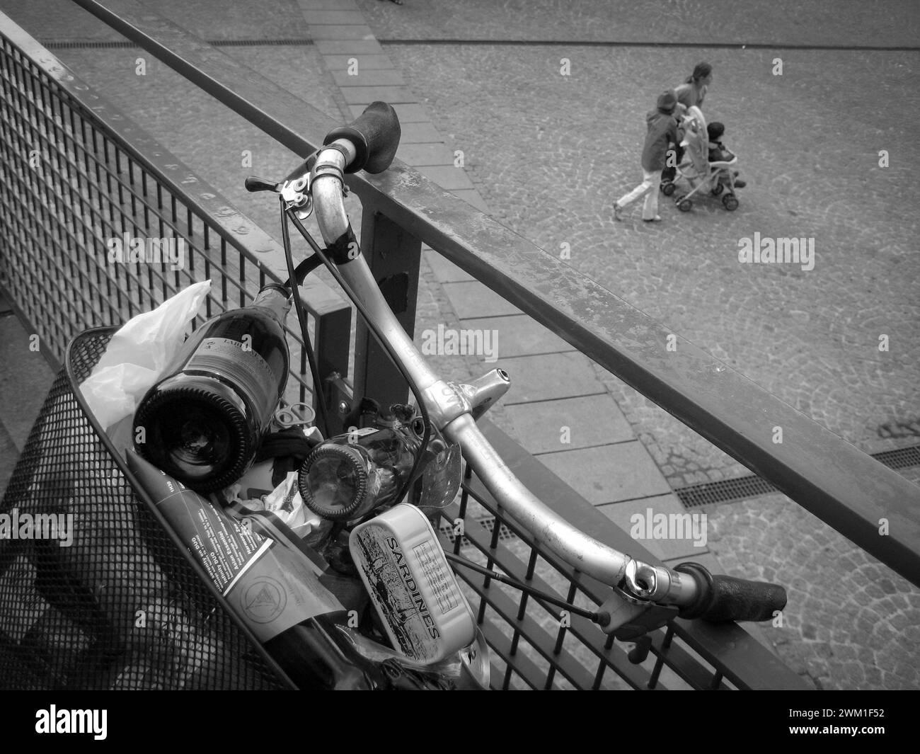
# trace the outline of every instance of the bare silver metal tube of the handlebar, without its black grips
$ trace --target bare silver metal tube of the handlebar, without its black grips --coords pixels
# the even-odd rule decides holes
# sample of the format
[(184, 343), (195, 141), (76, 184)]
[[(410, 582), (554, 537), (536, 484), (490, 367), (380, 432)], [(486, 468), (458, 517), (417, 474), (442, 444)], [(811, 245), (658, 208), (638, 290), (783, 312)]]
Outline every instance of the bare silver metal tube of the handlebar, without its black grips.
[[(310, 186), (316, 223), (328, 246), (340, 242), (351, 230), (343, 201), (343, 171), (355, 154), (347, 139), (339, 139), (333, 145), (319, 152), (311, 171)], [(444, 382), (431, 370), (387, 306), (362, 255), (340, 263), (339, 272), (361, 298), (415, 380), (425, 397), (431, 421), (447, 439), (463, 448), (467, 462), (495, 497), (503, 514), (512, 516), (535, 539), (579, 572), (619, 587), (627, 598), (677, 606), (694, 602), (698, 588), (693, 578), (615, 551), (573, 527), (531, 493), (479, 431), (464, 392)]]

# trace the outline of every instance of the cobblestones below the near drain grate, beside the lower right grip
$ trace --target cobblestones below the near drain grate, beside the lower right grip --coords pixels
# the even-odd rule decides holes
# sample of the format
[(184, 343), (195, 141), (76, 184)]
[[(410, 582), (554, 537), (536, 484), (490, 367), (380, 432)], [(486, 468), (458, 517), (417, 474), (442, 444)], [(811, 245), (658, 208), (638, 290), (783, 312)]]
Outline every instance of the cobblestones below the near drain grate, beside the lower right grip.
[[(707, 512), (726, 572), (786, 587), (783, 661), (818, 689), (917, 689), (920, 590), (781, 494)], [(793, 562), (795, 569), (788, 568)]]

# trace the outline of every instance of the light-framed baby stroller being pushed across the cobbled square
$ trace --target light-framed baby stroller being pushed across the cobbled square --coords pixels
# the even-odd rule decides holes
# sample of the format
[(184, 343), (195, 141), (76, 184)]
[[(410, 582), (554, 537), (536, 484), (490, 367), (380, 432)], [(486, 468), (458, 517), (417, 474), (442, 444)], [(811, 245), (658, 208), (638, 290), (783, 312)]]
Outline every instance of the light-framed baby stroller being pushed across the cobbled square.
[[(683, 178), (690, 184), (690, 191), (674, 197), (674, 203), (681, 212), (690, 212), (693, 209), (691, 197), (699, 191), (708, 191), (712, 196), (722, 194), (722, 205), (725, 209), (730, 212), (738, 209), (733, 169), (738, 163), (738, 157), (732, 155), (730, 160), (709, 162), (706, 119), (699, 108), (687, 109), (681, 127), (684, 129), (684, 140), (681, 142), (681, 146), (684, 147), (684, 161), (677, 166), (674, 180), (665, 180), (661, 183), (661, 191), (665, 196), (671, 196), (676, 189), (676, 181)], [(725, 191), (726, 189), (728, 191)]]

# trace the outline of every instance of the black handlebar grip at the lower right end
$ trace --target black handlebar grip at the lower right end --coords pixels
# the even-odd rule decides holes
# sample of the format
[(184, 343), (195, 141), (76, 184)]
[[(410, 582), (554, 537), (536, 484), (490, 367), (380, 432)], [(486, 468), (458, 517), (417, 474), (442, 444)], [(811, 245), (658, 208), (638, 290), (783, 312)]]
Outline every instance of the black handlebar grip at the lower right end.
[(786, 589), (763, 581), (710, 574), (699, 563), (681, 563), (675, 571), (690, 574), (699, 586), (693, 605), (680, 611), (681, 618), (726, 621), (769, 621), (786, 607)]

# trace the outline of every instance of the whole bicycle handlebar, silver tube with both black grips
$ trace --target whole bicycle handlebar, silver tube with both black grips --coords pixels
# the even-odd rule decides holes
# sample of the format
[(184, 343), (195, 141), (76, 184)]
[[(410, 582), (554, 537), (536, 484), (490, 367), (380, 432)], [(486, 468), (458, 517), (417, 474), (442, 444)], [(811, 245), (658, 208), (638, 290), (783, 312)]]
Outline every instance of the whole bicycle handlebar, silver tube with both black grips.
[[(432, 423), (460, 445), (502, 512), (581, 573), (615, 587), (631, 606), (647, 607), (652, 602), (672, 605), (682, 610), (682, 617), (708, 621), (763, 621), (772, 617), (774, 610), (785, 607), (786, 593), (781, 586), (712, 576), (697, 563), (684, 563), (676, 569), (653, 566), (593, 539), (542, 503), (489, 445), (463, 391), (431, 370), (386, 304), (362, 255), (343, 253), (355, 243), (345, 211), (343, 173), (362, 167), (369, 172), (384, 170), (396, 153), (399, 135), (396, 112), (382, 102), (368, 107), (350, 126), (328, 133), (310, 174), (316, 223), (352, 293), (361, 299), (423, 394)], [(626, 610), (631, 610), (632, 616), (642, 611)], [(627, 620), (631, 618), (623, 618)], [(614, 629), (615, 622), (609, 631), (604, 630)]]

